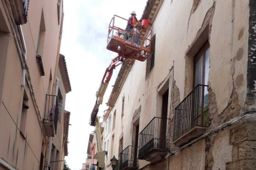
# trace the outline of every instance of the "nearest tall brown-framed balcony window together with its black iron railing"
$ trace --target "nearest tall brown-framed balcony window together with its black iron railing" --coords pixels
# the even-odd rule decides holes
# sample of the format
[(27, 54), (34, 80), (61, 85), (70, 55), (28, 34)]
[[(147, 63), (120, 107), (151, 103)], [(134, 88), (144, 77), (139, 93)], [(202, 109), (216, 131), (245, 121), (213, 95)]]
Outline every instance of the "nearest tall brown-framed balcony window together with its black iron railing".
[[(197, 54), (192, 59), (194, 70), (192, 91), (182, 100), (175, 108), (174, 115), (174, 142), (186, 133), (191, 132), (191, 129), (197, 126), (208, 127), (208, 77), (210, 72), (210, 44), (205, 42), (199, 49)], [(202, 129), (202, 128), (201, 128)], [(202, 132), (203, 133), (203, 132)], [(197, 132), (197, 134), (200, 134)], [(189, 138), (187, 138), (189, 140)], [(180, 140), (181, 141), (181, 140)], [(184, 144), (186, 140), (183, 140)], [(182, 142), (177, 142), (177, 145), (182, 145)]]

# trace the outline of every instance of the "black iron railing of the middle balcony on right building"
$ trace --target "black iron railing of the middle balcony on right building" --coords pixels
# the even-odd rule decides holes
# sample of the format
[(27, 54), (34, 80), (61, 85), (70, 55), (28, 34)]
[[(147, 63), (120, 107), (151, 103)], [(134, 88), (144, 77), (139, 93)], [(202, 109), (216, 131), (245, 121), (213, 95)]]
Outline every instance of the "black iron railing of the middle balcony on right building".
[(140, 132), (139, 159), (153, 148), (168, 149), (166, 142), (166, 129), (170, 119), (153, 118)]

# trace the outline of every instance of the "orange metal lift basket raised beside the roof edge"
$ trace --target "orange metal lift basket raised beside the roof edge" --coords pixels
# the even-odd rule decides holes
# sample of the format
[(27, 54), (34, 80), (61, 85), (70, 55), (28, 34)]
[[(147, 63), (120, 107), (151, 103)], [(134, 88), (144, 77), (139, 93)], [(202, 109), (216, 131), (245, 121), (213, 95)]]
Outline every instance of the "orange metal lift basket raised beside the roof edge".
[[(147, 28), (147, 20), (143, 20), (141, 26), (141, 34), (135, 33), (135, 29), (131, 32), (124, 30), (126, 25), (122, 25), (124, 22), (129, 22), (125, 18), (114, 15), (111, 22), (109, 23), (108, 29), (108, 44), (107, 49), (109, 51), (117, 52), (118, 55), (121, 55), (123, 59), (135, 59), (141, 62), (147, 60), (150, 55), (150, 46), (151, 46), (151, 34), (152, 31)], [(135, 23), (134, 23), (135, 24)], [(122, 25), (124, 29), (119, 26)], [(128, 39), (124, 39), (125, 34), (127, 34)], [(135, 37), (139, 41), (135, 42)]]

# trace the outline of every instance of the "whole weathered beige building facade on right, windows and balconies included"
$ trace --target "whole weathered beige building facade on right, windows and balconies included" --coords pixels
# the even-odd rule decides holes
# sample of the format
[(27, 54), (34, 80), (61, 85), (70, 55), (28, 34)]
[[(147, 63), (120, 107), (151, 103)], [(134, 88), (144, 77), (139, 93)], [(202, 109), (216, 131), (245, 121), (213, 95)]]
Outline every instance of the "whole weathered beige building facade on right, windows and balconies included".
[(256, 169), (255, 13), (252, 0), (148, 0), (152, 54), (119, 71), (105, 169), (114, 155), (119, 169)]

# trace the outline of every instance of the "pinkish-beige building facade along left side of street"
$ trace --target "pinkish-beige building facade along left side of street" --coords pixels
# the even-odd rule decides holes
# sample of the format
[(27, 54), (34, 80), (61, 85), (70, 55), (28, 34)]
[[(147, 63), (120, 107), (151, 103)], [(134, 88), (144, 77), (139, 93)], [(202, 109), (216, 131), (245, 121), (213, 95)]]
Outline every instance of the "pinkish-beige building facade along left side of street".
[[(63, 1), (0, 1), (0, 169), (63, 169), (71, 91)], [(50, 148), (50, 149), (49, 149)]]

